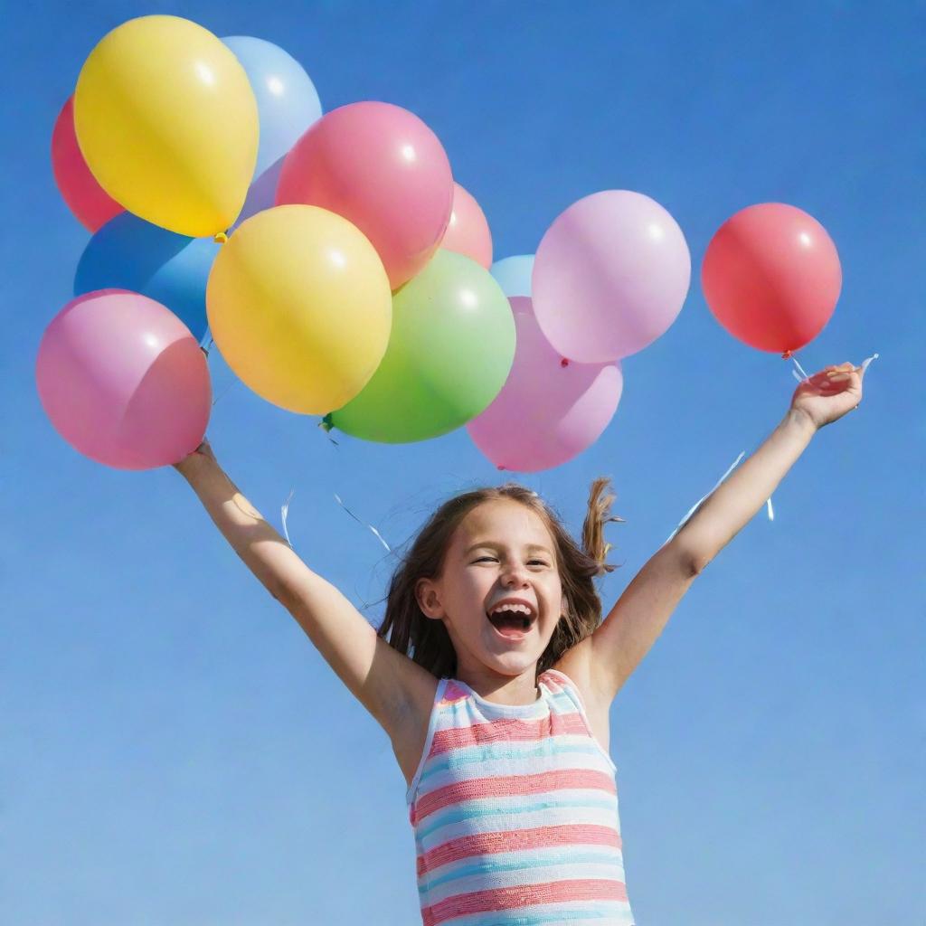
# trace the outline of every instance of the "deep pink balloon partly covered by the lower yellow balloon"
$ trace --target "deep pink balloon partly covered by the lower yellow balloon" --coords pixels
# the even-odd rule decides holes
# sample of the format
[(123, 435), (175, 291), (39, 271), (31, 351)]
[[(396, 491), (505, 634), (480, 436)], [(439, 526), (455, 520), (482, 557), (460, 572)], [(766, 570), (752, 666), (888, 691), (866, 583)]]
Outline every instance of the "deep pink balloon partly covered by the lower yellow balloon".
[(379, 253), (391, 287), (441, 244), (453, 205), (450, 162), (414, 113), (352, 103), (322, 116), (283, 161), (277, 206), (321, 206), (353, 222)]

